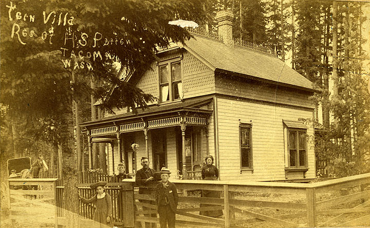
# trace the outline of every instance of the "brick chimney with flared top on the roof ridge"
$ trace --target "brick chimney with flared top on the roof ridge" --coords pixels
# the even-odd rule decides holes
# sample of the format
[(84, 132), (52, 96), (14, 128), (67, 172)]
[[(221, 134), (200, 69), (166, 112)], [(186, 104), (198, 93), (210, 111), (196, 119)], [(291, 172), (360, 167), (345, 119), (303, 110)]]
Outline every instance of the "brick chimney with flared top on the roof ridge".
[(232, 38), (233, 13), (230, 10), (221, 10), (216, 13), (218, 35), (223, 38), (224, 43), (229, 47), (234, 47)]

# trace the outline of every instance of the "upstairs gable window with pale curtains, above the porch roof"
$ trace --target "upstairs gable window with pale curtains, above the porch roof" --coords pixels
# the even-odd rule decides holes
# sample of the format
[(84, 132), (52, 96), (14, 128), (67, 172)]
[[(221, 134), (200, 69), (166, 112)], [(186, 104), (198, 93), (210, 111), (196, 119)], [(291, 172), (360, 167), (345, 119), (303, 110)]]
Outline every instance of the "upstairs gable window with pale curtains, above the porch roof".
[(159, 65), (159, 93), (161, 102), (182, 97), (181, 61)]

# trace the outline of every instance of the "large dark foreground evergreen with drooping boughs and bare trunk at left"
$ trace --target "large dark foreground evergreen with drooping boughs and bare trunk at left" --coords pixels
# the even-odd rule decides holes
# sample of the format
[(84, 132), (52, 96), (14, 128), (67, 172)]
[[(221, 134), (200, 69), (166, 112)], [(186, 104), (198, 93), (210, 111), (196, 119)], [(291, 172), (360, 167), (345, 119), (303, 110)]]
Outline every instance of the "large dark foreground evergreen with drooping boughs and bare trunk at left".
[[(75, 227), (77, 157), (73, 143), (72, 100), (84, 92), (93, 93), (99, 99), (107, 91), (103, 87), (91, 91), (86, 83), (73, 83), (71, 72), (88, 77), (90, 72), (85, 67), (88, 63), (94, 68), (93, 73), (118, 86), (121, 96), (109, 99), (111, 103), (103, 103), (105, 109), (145, 107), (153, 96), (116, 78), (110, 70), (115, 60), (111, 57), (117, 57), (134, 74), (140, 74), (155, 60), (157, 46), (165, 47), (170, 41), (183, 42), (190, 38), (185, 29), (168, 22), (176, 19), (203, 22), (202, 2), (3, 1), (0, 10), (1, 103), (9, 110), (9, 116), (18, 114), (53, 122), (58, 136), (54, 142), (63, 150), (64, 191), (70, 196), (65, 199), (66, 209), (71, 212), (67, 215), (70, 223), (67, 226)], [(27, 20), (18, 19), (17, 11), (35, 15), (35, 19), (32, 21), (30, 16)], [(64, 63), (76, 61), (78, 65), (69, 67), (62, 60)]]

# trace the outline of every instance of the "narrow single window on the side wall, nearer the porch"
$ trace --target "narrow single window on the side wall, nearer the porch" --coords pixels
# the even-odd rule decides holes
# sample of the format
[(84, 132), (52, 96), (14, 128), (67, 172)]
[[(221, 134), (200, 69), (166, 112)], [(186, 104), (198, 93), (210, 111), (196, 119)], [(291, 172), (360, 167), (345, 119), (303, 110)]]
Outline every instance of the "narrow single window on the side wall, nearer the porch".
[(252, 169), (252, 126), (239, 125), (241, 170)]

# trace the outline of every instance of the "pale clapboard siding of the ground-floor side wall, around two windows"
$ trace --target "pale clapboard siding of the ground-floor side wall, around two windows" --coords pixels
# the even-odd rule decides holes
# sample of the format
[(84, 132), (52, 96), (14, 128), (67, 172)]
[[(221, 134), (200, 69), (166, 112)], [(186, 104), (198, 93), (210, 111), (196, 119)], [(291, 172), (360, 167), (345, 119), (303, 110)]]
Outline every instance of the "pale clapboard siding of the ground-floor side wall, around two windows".
[[(217, 99), (218, 146), (221, 180), (285, 180), (283, 119), (298, 121), (311, 118), (312, 110), (301, 110), (268, 104)], [(240, 171), (239, 119), (252, 123), (253, 173)], [(313, 136), (313, 129), (307, 129)], [(315, 178), (315, 154), (308, 139), (308, 178)], [(303, 172), (290, 172), (289, 178), (303, 179)]]

